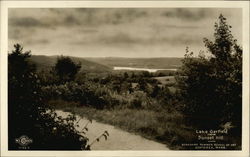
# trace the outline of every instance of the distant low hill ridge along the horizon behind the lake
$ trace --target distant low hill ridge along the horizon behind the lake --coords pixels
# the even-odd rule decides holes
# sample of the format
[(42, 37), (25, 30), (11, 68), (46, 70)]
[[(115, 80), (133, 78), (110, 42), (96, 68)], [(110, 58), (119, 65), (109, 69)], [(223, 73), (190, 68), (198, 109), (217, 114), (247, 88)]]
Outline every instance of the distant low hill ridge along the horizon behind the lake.
[[(31, 61), (37, 65), (38, 70), (50, 68), (55, 65), (60, 56), (32, 55)], [(121, 58), (121, 57), (96, 57), (81, 58), (71, 57), (74, 62), (81, 63), (81, 70), (87, 72), (108, 72), (114, 67), (136, 67), (152, 69), (174, 69), (182, 65), (183, 58)]]

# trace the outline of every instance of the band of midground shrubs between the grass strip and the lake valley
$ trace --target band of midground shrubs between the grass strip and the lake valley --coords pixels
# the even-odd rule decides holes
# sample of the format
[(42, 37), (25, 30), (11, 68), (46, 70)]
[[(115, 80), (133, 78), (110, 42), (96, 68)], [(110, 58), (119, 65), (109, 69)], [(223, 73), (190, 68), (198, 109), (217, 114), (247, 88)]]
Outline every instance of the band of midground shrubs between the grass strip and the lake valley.
[(157, 82), (142, 78), (143, 88), (140, 88), (142, 86), (139, 85), (140, 81), (137, 86), (132, 87), (129, 78), (127, 80), (125, 78), (123, 75), (121, 77), (110, 75), (99, 80), (84, 78), (84, 82), (78, 80), (80, 83), (71, 81), (43, 86), (42, 91), (50, 102), (59, 99), (76, 103), (74, 106), (91, 106), (97, 109), (117, 107), (156, 109), (157, 106), (166, 106), (165, 104), (174, 99), (167, 86), (159, 87)]

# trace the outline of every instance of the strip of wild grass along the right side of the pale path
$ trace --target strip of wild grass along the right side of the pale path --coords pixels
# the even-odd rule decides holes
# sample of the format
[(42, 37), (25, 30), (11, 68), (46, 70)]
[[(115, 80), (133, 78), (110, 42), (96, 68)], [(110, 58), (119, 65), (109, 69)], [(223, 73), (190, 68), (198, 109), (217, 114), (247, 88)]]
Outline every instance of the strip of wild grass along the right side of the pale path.
[(137, 109), (97, 110), (90, 107), (76, 107), (74, 103), (66, 104), (64, 102), (61, 102), (60, 105), (57, 103), (55, 107), (139, 134), (147, 139), (166, 144), (174, 150), (184, 149), (181, 147), (181, 143), (192, 141), (195, 138), (194, 129), (184, 125), (183, 117), (179, 113)]

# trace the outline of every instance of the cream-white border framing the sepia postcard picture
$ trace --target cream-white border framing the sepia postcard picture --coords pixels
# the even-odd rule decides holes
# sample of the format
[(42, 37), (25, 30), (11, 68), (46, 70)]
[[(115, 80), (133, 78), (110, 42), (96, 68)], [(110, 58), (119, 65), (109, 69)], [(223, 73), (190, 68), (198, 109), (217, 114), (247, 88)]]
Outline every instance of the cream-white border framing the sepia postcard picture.
[[(249, 1), (0, 1), (1, 3), (1, 156), (249, 156)], [(243, 133), (242, 151), (8, 151), (7, 51), (8, 8), (242, 8)]]

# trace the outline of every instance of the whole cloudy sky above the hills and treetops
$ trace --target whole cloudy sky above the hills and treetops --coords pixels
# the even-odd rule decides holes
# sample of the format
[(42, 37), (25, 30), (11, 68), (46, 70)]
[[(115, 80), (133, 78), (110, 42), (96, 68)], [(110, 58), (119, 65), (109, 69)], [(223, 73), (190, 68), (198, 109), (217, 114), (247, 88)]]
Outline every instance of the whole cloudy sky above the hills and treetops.
[(206, 50), (220, 14), (241, 45), (241, 9), (11, 8), (8, 49), (20, 43), (33, 55), (183, 57)]

